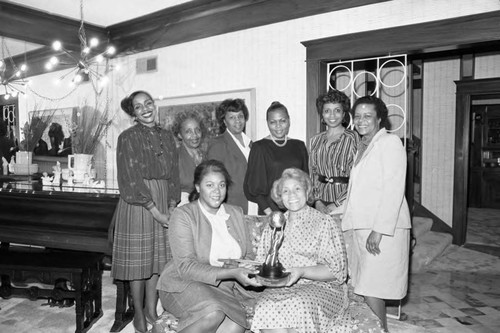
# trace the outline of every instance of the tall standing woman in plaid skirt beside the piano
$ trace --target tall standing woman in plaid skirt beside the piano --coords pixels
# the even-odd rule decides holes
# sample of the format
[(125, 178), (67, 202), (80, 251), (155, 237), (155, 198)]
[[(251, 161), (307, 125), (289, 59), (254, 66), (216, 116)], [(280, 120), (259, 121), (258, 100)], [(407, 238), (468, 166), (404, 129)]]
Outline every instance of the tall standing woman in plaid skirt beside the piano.
[(179, 170), (173, 135), (156, 123), (153, 98), (145, 91), (124, 98), (121, 107), (136, 125), (118, 137), (120, 200), (114, 215), (111, 276), (130, 282), (134, 328), (146, 332), (157, 319), (158, 275), (171, 259), (169, 209), (179, 200)]

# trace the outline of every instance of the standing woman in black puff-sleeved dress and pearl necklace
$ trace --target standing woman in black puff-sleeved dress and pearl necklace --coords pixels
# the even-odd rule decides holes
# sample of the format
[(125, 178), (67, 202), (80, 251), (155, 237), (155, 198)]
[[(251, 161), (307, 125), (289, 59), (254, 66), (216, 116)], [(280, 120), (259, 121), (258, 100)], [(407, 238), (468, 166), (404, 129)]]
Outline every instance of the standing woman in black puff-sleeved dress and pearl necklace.
[(248, 200), (259, 205), (259, 215), (280, 210), (270, 192), (283, 170), (295, 167), (309, 173), (304, 142), (288, 138), (290, 116), (287, 108), (280, 102), (271, 103), (266, 119), (270, 134), (253, 144), (244, 184)]

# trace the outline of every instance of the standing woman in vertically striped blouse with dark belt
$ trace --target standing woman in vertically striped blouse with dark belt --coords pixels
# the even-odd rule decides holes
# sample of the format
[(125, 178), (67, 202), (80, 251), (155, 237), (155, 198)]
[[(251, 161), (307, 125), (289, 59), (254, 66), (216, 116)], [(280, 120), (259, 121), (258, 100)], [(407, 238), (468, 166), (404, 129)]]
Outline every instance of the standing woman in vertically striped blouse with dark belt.
[(309, 145), (309, 169), (314, 206), (324, 214), (335, 212), (347, 197), (349, 174), (359, 135), (346, 129), (351, 101), (343, 92), (330, 90), (316, 99), (326, 131), (313, 136)]

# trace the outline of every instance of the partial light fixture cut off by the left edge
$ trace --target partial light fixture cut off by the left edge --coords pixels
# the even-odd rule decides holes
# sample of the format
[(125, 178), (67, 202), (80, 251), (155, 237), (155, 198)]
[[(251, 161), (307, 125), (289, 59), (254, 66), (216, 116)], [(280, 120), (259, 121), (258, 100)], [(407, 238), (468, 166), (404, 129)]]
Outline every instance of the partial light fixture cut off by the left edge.
[[(11, 66), (8, 71), (7, 66)], [(0, 59), (0, 84), (3, 86), (4, 99), (24, 95), (24, 87), (28, 83), (24, 79), (24, 74), (28, 70), (26, 64), (17, 67), (12, 60), (5, 38), (2, 37), (2, 58)], [(1, 92), (1, 91), (0, 91)]]

